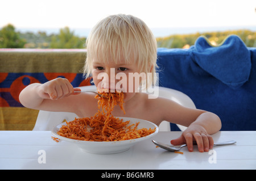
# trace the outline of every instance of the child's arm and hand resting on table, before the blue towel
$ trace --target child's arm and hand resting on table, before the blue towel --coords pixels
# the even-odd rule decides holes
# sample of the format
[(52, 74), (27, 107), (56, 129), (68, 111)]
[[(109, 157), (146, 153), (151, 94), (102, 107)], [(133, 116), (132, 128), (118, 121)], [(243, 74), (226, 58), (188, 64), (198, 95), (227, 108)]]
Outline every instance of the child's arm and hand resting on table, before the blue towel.
[(196, 141), (199, 151), (208, 151), (213, 147), (210, 134), (221, 129), (221, 120), (214, 113), (183, 107), (173, 101), (162, 99), (163, 120), (188, 127), (182, 135), (171, 141), (173, 145), (186, 143), (188, 150), (193, 150), (193, 141)]

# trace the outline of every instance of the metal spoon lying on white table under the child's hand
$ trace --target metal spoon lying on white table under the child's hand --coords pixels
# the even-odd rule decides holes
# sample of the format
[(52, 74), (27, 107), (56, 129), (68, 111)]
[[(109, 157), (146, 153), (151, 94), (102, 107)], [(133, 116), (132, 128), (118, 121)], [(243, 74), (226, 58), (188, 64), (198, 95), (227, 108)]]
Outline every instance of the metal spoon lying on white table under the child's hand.
[[(166, 149), (168, 151), (179, 151), (184, 146), (187, 146), (187, 144), (179, 145), (179, 146), (171, 146), (167, 144), (163, 144), (162, 142), (158, 142), (155, 140), (152, 140), (156, 146), (159, 146), (160, 148)], [(232, 145), (235, 144), (236, 141), (225, 141), (225, 142), (214, 142), (213, 146), (220, 146), (220, 145)]]

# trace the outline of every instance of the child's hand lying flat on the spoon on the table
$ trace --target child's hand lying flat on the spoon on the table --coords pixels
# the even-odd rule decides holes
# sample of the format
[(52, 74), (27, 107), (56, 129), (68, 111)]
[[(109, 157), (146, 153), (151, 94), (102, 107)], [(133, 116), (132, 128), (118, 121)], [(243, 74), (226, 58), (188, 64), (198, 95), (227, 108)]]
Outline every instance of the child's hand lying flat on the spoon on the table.
[(171, 140), (172, 145), (187, 144), (188, 150), (193, 151), (193, 142), (196, 141), (200, 152), (209, 151), (213, 148), (213, 138), (200, 125), (191, 124), (179, 138)]

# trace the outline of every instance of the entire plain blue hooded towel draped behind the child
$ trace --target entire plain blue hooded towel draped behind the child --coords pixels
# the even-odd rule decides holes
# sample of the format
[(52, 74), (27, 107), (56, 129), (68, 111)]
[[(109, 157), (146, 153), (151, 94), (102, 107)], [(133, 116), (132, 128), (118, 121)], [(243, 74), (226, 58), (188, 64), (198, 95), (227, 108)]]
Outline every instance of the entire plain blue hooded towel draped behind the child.
[[(199, 37), (189, 49), (158, 49), (159, 86), (187, 94), (213, 112), (222, 131), (256, 131), (256, 48), (237, 36), (219, 46)], [(171, 124), (172, 131), (179, 131)]]

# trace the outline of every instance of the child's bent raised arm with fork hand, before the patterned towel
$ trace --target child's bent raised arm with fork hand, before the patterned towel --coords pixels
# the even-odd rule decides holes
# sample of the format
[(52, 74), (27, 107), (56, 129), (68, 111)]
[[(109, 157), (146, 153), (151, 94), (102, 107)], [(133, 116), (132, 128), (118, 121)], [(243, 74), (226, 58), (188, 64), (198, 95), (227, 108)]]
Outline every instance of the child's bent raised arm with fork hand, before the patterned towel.
[(44, 84), (33, 83), (20, 92), (19, 100), (24, 107), (45, 111), (74, 112), (76, 96), (67, 79), (57, 78)]

